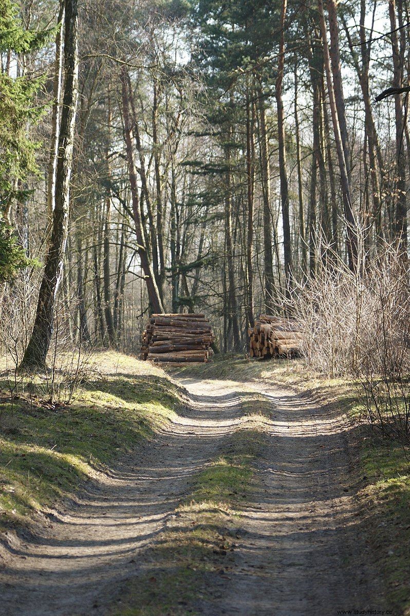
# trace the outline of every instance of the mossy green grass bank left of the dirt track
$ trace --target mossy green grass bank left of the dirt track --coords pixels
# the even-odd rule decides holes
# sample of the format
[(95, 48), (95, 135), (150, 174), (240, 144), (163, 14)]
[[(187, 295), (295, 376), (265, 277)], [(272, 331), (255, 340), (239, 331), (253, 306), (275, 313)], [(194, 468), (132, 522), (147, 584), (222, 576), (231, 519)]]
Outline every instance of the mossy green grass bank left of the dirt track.
[[(0, 378), (1, 395), (7, 376)], [(94, 358), (91, 378), (70, 405), (49, 405), (41, 378), (22, 379), (0, 414), (0, 531), (30, 525), (36, 514), (84, 480), (135, 450), (171, 418), (177, 387), (151, 365), (116, 353)]]

